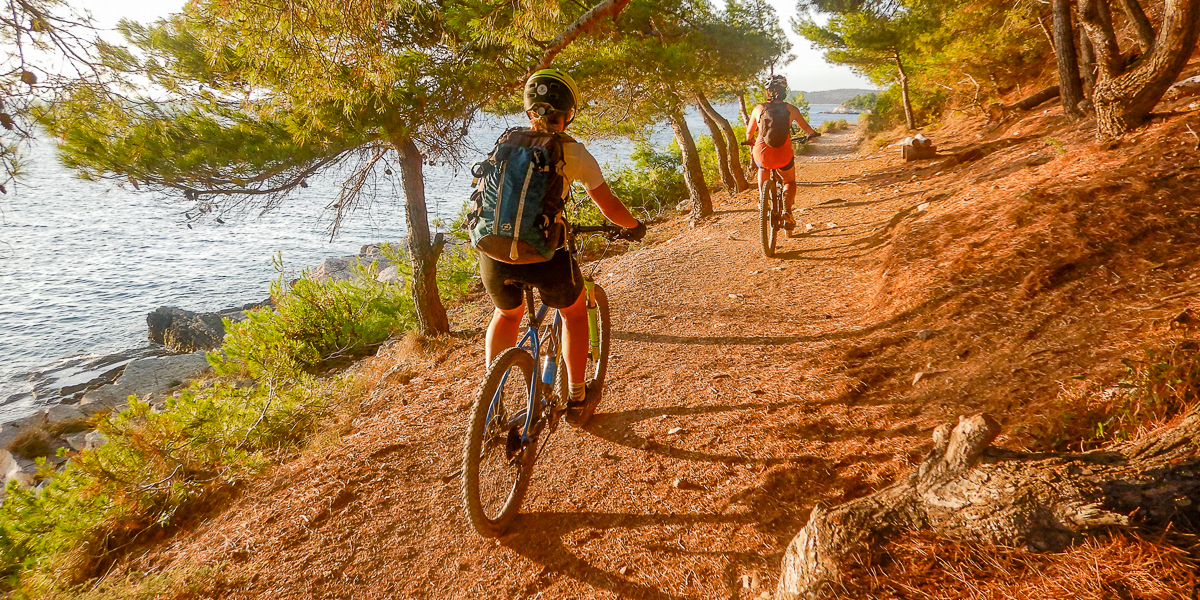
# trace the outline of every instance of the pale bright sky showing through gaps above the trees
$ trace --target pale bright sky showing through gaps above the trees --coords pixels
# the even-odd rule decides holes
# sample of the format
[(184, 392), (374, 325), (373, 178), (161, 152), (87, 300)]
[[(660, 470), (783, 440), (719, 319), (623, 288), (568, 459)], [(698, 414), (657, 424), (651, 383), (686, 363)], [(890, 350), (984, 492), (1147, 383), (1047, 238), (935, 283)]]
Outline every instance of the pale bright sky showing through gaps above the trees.
[[(112, 28), (121, 18), (149, 22), (166, 17), (182, 8), (185, 0), (82, 0), (77, 6), (91, 11), (97, 25)], [(718, 5), (722, 0), (715, 0)], [(850, 68), (830, 65), (824, 61), (820, 50), (812, 49), (809, 42), (792, 31), (791, 19), (796, 14), (796, 0), (768, 0), (779, 14), (779, 22), (792, 42), (792, 54), (796, 55), (781, 72), (787, 77), (787, 84), (793, 90), (820, 91), (840, 88), (874, 89), (865, 78), (854, 74)]]

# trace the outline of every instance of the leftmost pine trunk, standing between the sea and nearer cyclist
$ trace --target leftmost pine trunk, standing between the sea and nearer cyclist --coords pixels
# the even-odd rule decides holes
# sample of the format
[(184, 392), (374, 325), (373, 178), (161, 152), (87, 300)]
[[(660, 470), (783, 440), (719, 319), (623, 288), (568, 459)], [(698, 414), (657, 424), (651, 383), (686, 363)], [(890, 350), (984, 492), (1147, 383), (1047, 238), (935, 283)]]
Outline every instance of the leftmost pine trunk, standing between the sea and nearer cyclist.
[(442, 236), (430, 240), (430, 217), (425, 206), (425, 157), (413, 138), (404, 133), (390, 134), (391, 143), (400, 154), (400, 173), (404, 187), (404, 220), (408, 224), (408, 256), (413, 262), (413, 305), (421, 332), (427, 335), (450, 332), (450, 320), (438, 295), (438, 257), (442, 254)]

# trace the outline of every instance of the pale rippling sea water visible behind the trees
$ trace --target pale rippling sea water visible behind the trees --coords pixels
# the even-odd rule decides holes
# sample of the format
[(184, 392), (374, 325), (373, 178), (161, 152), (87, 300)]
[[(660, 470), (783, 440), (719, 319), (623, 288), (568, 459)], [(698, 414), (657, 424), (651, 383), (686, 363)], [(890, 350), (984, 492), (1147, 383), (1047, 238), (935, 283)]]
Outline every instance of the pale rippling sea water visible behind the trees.
[[(856, 115), (822, 114), (814, 126)], [(736, 104), (718, 109), (737, 122)], [(694, 137), (708, 132), (688, 114)], [(482, 157), (516, 118), (481, 118), (467, 144)], [(650, 142), (665, 148), (671, 130)], [(588, 148), (601, 164), (628, 162), (628, 140)], [(188, 222), (181, 198), (138, 191), (125, 181), (86, 181), (59, 164), (52, 142), (36, 143), (20, 184), (0, 196), (0, 422), (61, 400), (60, 389), (155, 353), (146, 313), (160, 306), (198, 312), (265, 300), (282, 257), (288, 276), (365, 244), (404, 236), (398, 168), (380, 180), (373, 203), (353, 212), (330, 239), (331, 214), (344, 173), (308, 181), (277, 208), (253, 205), (215, 220)], [(469, 160), (468, 162), (473, 162)], [(425, 168), (431, 218), (454, 217), (469, 196), (462, 166)]]

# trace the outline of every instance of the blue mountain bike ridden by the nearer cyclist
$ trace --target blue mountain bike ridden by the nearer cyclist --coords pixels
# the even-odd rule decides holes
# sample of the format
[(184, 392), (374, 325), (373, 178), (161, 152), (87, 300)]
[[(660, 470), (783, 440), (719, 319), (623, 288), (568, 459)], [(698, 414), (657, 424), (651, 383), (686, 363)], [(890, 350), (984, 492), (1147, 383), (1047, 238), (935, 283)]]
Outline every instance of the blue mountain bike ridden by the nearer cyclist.
[[(575, 238), (601, 234), (616, 239), (617, 226), (574, 227), (569, 248), (576, 252)], [(462, 497), (467, 517), (485, 538), (502, 535), (521, 509), (533, 466), (540, 455), (539, 438), (548, 440), (566, 415), (578, 426), (587, 425), (604, 390), (608, 367), (611, 323), (608, 296), (604, 288), (584, 277), (588, 306), (587, 386), (590, 400), (582, 407), (568, 407), (570, 388), (563, 356), (563, 318), (550, 307), (535, 305), (533, 289), (526, 288), (528, 318), (524, 336), (516, 347), (492, 360), (475, 396), (462, 457)]]

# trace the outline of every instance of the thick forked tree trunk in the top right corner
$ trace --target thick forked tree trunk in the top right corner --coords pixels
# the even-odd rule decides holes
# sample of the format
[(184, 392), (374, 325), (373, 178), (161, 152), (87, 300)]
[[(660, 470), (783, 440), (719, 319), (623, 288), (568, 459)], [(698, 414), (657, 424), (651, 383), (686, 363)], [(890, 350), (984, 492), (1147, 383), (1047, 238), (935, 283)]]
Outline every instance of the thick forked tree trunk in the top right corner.
[(1092, 104), (1102, 138), (1124, 134), (1150, 118), (1183, 71), (1200, 36), (1200, 0), (1165, 0), (1153, 50), (1124, 67), (1106, 4), (1080, 0), (1080, 20), (1096, 47), (1099, 71)]

